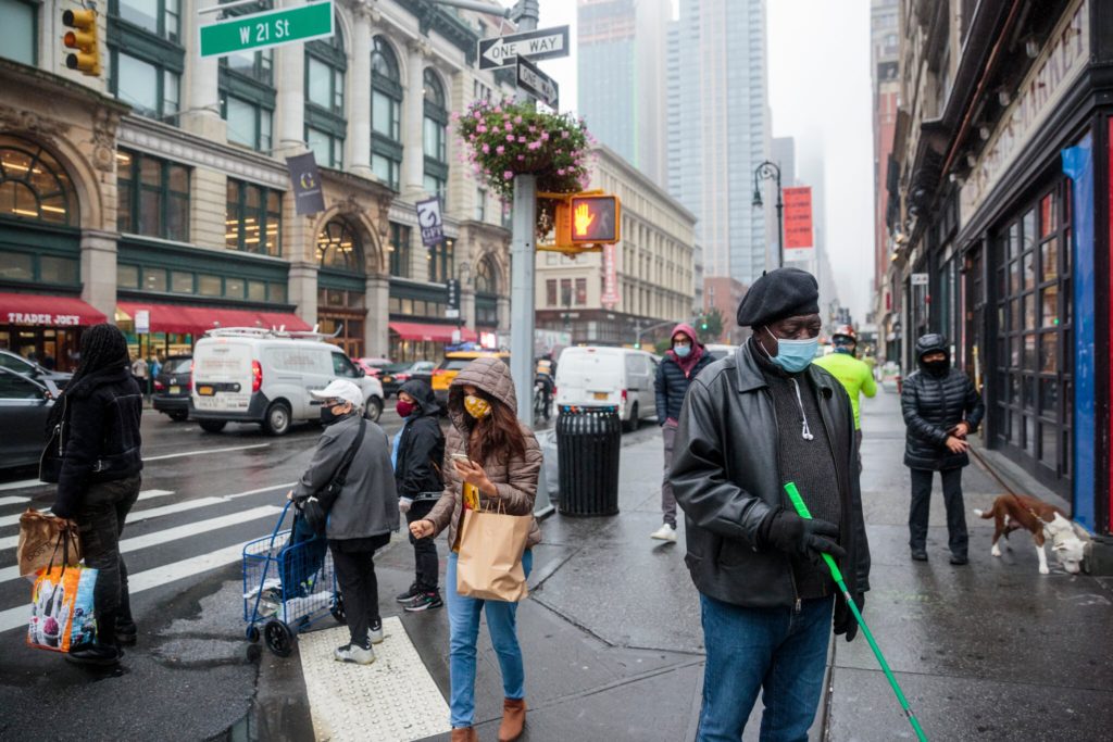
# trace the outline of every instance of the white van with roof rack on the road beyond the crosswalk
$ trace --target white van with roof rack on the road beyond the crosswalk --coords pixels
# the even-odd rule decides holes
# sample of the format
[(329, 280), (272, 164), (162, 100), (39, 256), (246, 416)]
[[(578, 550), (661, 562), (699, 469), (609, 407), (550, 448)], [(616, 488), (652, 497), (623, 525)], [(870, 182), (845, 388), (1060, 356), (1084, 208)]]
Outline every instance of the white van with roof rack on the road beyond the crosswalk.
[(316, 333), (256, 328), (209, 330), (194, 346), (190, 417), (208, 433), (228, 423), (258, 423), (283, 435), (293, 422), (321, 418), (321, 400), (309, 396), (334, 378), (363, 389), (365, 416), (383, 414), (383, 385)]

